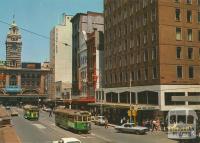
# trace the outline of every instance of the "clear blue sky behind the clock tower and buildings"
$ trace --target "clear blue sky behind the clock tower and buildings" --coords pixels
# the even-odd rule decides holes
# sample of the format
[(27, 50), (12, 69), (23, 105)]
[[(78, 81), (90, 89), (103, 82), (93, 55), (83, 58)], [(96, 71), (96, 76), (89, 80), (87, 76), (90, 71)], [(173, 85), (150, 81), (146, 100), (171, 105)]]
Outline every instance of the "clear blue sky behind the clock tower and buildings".
[[(12, 23), (13, 14), (19, 27), (49, 37), (59, 17), (68, 15), (103, 12), (103, 0), (1, 0), (0, 21)], [(0, 23), (0, 60), (5, 60), (5, 40), (9, 25)], [(49, 60), (48, 39), (20, 30), (22, 34), (22, 61), (43, 62)]]

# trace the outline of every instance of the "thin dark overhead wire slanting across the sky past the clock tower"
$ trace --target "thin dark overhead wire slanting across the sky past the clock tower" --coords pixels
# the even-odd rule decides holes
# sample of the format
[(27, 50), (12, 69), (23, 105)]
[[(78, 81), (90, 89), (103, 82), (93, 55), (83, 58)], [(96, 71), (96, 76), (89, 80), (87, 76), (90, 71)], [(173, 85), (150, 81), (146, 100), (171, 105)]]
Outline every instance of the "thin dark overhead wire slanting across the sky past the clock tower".
[[(2, 21), (2, 20), (0, 20), (0, 23), (6, 24), (6, 25), (11, 25), (10, 23), (5, 22), (5, 21)], [(19, 27), (19, 29), (21, 29), (22, 31), (28, 32), (28, 33), (30, 33), (30, 34), (39, 36), (39, 37), (44, 38), (44, 39), (47, 39), (47, 40), (50, 40), (50, 37), (48, 37), (48, 36), (45, 36), (45, 35), (42, 35), (42, 34), (39, 34), (39, 33), (33, 32), (33, 31), (30, 31), (30, 30), (25, 29), (25, 28), (22, 28), (22, 27), (20, 27), (20, 26), (18, 26), (18, 27)], [(69, 45), (69, 44), (67, 44), (67, 43), (64, 43), (64, 42), (61, 42), (61, 41), (57, 41), (57, 42), (58, 42), (58, 43), (61, 43), (61, 44), (64, 44), (65, 46), (71, 46), (71, 45)]]

